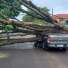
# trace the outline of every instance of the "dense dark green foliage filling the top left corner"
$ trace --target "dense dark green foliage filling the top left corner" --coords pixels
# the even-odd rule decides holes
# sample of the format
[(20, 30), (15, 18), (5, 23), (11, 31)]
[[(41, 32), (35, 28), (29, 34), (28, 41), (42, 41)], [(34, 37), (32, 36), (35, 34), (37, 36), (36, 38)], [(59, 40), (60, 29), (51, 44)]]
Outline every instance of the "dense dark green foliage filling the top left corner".
[[(19, 0), (0, 0), (0, 13), (6, 17), (14, 17), (19, 14), (20, 7)], [(18, 8), (18, 9), (17, 9)], [(3, 18), (0, 16), (0, 18)]]

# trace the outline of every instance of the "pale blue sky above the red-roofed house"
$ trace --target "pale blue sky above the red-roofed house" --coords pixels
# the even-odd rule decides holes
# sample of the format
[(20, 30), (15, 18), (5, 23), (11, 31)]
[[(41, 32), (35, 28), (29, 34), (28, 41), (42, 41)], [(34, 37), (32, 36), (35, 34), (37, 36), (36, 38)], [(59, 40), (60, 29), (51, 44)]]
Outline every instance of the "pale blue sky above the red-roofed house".
[(34, 4), (50, 9), (54, 9), (54, 14), (68, 13), (68, 0), (32, 0)]

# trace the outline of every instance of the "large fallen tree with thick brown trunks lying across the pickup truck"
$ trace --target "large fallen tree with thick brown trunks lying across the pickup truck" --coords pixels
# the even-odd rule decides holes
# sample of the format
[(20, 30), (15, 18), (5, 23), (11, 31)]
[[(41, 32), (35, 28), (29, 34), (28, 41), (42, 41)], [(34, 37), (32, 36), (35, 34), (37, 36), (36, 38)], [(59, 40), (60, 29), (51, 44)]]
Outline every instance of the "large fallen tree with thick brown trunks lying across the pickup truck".
[[(6, 18), (5, 15), (1, 14), (0, 15), (4, 18), (0, 20), (0, 23), (2, 24), (11, 24), (11, 25), (15, 25), (21, 32), (23, 33), (28, 33), (28, 34), (33, 34), (33, 35), (39, 35), (39, 34), (48, 34), (51, 33), (53, 31), (59, 31), (59, 32), (63, 32), (63, 33), (68, 33), (68, 29), (65, 28), (63, 25), (59, 24), (58, 22), (56, 22), (55, 20), (52, 19), (52, 17), (50, 16), (50, 14), (46, 14), (43, 11), (41, 11), (38, 7), (36, 7), (32, 2), (27, 1), (27, 0), (19, 0), (20, 4), (23, 4), (24, 6), (26, 6), (27, 8), (29, 8), (30, 10), (34, 11), (37, 16), (34, 16), (33, 14), (22, 10), (23, 12), (36, 17), (36, 18), (40, 18), (43, 19), (45, 21), (47, 21), (48, 23), (53, 24), (53, 26), (42, 26), (42, 25), (35, 25), (35, 24), (25, 24), (23, 22), (20, 21), (14, 21), (14, 20), (10, 20), (9, 18)], [(13, 6), (13, 8), (15, 10), (17, 10), (18, 8), (15, 8), (15, 6)], [(21, 28), (21, 29), (19, 29)], [(7, 39), (1, 39), (1, 40), (7, 40)], [(39, 40), (37, 39), (37, 37), (33, 37), (33, 38), (18, 38), (18, 39), (10, 39), (11, 42), (33, 42), (35, 40)]]

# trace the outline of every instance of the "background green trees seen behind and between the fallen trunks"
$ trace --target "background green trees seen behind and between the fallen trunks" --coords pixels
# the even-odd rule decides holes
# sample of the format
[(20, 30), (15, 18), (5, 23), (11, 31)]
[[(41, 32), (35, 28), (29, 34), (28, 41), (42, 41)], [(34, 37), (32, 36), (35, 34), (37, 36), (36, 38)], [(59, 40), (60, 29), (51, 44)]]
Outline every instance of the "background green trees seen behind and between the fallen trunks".
[[(46, 13), (48, 13), (49, 12), (49, 9), (47, 8), (47, 7), (43, 7), (43, 8), (40, 8), (39, 7), (39, 9), (40, 10), (42, 10), (43, 12), (46, 12)], [(33, 15), (35, 15), (35, 16), (38, 16), (35, 12), (33, 12), (32, 10), (28, 10), (28, 12), (30, 12), (30, 13), (32, 13)], [(37, 21), (36, 21), (37, 20)], [(34, 17), (32, 17), (32, 16), (29, 16), (29, 15), (25, 15), (24, 17), (23, 17), (23, 21), (24, 22), (34, 22), (35, 24), (36, 24), (36, 22), (43, 22), (43, 20), (40, 20), (40, 19), (36, 19), (36, 18), (34, 18)]]

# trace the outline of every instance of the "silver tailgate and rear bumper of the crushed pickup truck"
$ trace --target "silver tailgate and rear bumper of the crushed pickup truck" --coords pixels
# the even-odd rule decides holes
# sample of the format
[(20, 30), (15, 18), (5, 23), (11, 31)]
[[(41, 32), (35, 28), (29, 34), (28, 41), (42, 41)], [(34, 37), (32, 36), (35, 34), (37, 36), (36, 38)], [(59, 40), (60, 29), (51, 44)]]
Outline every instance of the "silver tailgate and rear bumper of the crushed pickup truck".
[(49, 48), (59, 48), (61, 50), (66, 50), (68, 45), (68, 34), (49, 34), (47, 43)]

